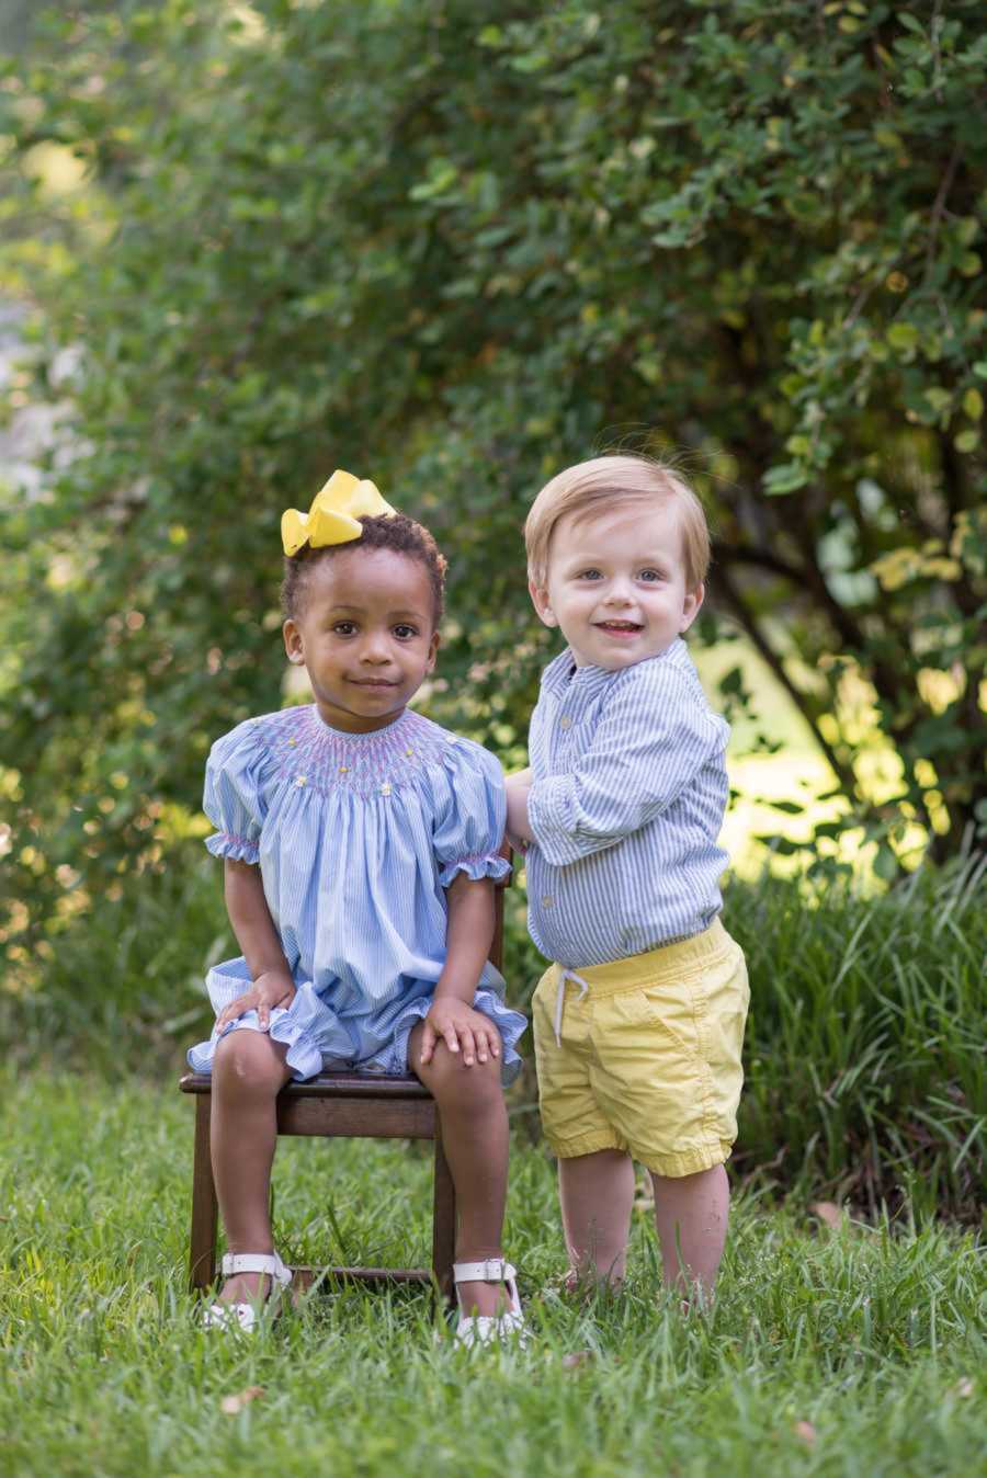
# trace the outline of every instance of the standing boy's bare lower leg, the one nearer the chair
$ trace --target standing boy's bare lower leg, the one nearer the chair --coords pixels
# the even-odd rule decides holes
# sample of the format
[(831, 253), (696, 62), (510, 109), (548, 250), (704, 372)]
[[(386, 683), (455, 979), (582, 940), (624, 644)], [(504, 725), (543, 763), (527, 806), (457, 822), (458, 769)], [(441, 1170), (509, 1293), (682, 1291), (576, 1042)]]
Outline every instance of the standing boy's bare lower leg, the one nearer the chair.
[(578, 1277), (624, 1281), (634, 1205), (634, 1162), (624, 1150), (559, 1160), (566, 1250)]

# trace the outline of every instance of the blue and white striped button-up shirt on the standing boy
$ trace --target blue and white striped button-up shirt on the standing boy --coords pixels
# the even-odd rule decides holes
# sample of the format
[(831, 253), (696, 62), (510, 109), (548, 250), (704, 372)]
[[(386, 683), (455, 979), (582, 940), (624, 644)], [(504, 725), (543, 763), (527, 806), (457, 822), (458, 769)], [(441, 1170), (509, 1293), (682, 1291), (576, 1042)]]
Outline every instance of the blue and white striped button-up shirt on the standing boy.
[(730, 726), (706, 702), (677, 638), (610, 672), (542, 675), (532, 714), (529, 927), (570, 970), (690, 939), (721, 907)]

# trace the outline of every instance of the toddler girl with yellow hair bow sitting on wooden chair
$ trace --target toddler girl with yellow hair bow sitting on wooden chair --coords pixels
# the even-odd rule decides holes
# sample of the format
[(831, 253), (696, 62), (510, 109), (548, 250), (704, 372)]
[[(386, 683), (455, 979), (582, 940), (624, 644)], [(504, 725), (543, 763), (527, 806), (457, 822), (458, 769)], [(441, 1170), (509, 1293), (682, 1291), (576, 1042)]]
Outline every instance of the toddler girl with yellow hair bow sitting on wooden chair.
[[(217, 740), (204, 807), (225, 859), (238, 959), (189, 1052), (213, 1073), (211, 1156), (229, 1253), (211, 1327), (256, 1327), (290, 1283), (269, 1216), (275, 1098), (322, 1069), (414, 1070), (434, 1095), (457, 1190), (458, 1338), (520, 1330), (501, 1259), (501, 1079), (525, 1017), (488, 961), (507, 871), (496, 760), (406, 708), (433, 671), (445, 560), (371, 482), (337, 471), (282, 519), (284, 640), (315, 702)], [(507, 1290), (507, 1305), (505, 1292)]]

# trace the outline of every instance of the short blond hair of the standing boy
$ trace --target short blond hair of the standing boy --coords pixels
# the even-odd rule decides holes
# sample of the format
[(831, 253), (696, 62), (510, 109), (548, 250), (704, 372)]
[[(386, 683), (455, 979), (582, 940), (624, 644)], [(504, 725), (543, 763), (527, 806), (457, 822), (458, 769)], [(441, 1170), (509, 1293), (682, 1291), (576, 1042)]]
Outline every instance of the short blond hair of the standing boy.
[(689, 483), (671, 467), (649, 457), (592, 457), (557, 473), (530, 505), (525, 522), (527, 578), (544, 590), (548, 582), (548, 545), (556, 525), (567, 513), (603, 511), (616, 503), (674, 501), (680, 511), (686, 588), (696, 590), (709, 569), (709, 529), (703, 505)]

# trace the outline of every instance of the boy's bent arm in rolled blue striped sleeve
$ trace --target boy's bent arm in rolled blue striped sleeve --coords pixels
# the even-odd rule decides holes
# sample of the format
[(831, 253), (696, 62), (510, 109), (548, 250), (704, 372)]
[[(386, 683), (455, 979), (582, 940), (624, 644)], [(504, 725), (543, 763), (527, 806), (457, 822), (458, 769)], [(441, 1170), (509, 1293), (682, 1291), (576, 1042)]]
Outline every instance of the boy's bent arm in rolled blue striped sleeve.
[(535, 780), (527, 792), (529, 831), (542, 856), (561, 868), (640, 831), (721, 742), (720, 720), (674, 678), (660, 692), (632, 683), (618, 689), (590, 751), (569, 773)]

